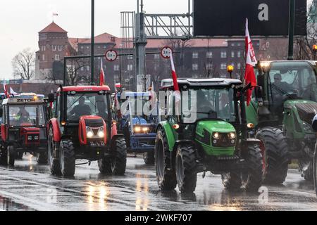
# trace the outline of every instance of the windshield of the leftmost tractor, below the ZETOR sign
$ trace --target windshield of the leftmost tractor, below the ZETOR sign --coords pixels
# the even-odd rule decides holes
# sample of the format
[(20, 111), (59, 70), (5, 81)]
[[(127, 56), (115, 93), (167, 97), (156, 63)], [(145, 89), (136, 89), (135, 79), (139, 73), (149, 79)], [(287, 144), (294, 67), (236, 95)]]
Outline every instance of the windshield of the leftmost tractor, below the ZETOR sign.
[(9, 105), (10, 126), (36, 126), (45, 125), (45, 117), (42, 105)]

